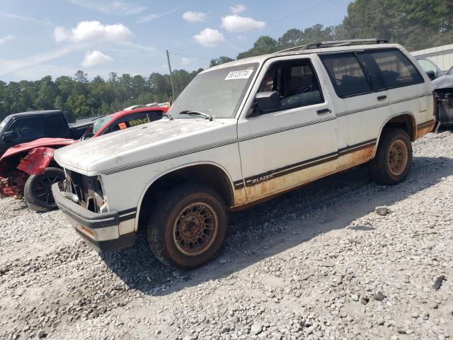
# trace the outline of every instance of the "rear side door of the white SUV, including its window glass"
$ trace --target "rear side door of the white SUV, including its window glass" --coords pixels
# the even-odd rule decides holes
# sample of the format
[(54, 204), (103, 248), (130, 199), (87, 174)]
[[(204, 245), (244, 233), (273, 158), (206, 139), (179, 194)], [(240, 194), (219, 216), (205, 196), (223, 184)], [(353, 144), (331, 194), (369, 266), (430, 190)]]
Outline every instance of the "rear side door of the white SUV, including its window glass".
[(377, 136), (389, 117), (389, 99), (379, 72), (364, 51), (319, 56), (331, 79), (337, 101), (338, 162), (349, 167), (374, 154)]

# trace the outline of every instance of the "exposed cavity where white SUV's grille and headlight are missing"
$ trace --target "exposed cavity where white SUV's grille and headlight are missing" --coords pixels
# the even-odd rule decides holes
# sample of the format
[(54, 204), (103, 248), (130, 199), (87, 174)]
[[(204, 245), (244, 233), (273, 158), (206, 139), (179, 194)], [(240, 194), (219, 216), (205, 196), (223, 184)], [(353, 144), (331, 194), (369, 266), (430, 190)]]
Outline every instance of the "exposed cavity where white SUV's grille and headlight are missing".
[(107, 212), (101, 179), (65, 169), (62, 195), (92, 212)]

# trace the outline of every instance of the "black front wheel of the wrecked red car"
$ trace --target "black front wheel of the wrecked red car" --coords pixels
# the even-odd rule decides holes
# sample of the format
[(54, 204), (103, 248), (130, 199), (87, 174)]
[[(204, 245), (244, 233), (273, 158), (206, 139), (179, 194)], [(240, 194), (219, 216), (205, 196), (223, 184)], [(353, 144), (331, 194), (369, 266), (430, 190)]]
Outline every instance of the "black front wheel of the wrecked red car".
[(46, 168), (44, 174), (28, 177), (23, 188), (23, 198), (31, 210), (45, 212), (57, 208), (52, 196), (52, 184), (64, 180), (64, 171)]

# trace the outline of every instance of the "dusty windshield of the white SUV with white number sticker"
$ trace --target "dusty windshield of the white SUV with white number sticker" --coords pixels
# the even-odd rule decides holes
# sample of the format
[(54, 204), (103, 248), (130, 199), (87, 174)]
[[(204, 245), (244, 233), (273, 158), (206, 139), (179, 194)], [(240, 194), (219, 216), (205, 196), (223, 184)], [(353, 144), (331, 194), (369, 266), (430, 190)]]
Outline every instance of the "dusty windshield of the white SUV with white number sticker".
[(258, 63), (225, 67), (198, 74), (178, 96), (168, 114), (172, 118), (203, 118), (194, 111), (214, 118), (232, 118), (236, 114)]

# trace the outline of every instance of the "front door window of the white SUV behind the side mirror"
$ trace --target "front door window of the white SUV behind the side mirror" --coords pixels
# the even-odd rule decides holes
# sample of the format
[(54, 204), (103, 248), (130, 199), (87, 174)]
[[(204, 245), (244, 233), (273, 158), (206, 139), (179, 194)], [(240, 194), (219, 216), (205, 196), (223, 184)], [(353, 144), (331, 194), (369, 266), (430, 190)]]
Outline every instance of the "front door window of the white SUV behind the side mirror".
[(323, 103), (321, 86), (308, 59), (273, 64), (258, 92), (267, 91), (277, 91), (282, 110)]

